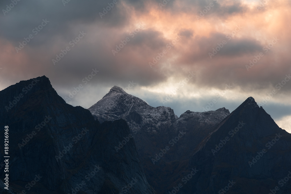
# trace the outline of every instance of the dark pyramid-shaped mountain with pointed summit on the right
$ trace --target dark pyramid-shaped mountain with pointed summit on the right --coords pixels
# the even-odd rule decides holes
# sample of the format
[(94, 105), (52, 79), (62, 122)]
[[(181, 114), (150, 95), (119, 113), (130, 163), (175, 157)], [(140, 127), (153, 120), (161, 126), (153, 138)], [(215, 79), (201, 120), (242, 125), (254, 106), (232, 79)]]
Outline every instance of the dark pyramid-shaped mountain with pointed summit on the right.
[(291, 134), (249, 97), (200, 142), (180, 193), (290, 194), (290, 149)]

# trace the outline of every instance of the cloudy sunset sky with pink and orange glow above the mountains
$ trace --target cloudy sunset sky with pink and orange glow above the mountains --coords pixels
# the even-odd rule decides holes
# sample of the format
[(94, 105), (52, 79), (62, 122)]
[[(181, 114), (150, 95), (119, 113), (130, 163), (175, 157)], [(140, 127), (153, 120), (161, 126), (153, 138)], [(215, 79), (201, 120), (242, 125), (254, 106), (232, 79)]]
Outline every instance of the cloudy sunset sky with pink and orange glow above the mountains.
[(0, 90), (45, 75), (68, 104), (89, 108), (116, 85), (178, 116), (232, 112), (252, 96), (291, 132), (290, 8), (290, 0), (3, 0)]

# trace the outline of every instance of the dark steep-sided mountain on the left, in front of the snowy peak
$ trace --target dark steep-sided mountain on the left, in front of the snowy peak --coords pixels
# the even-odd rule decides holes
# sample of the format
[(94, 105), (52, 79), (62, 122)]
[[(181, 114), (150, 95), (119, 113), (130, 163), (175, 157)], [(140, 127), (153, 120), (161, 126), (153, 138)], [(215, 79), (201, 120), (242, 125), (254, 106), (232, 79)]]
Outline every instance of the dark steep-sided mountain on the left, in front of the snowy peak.
[(45, 76), (0, 91), (1, 136), (6, 125), (15, 193), (155, 193), (127, 123), (100, 124), (88, 110), (66, 104)]

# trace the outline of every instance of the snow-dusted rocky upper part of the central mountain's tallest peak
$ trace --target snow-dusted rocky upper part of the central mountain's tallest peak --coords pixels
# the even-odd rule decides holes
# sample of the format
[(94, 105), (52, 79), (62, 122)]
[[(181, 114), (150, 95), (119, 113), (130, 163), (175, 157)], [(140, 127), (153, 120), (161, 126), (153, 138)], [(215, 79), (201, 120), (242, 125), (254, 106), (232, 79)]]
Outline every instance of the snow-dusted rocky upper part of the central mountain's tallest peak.
[(108, 94), (88, 110), (100, 122), (123, 118), (133, 131), (145, 127), (148, 134), (158, 134), (163, 127), (171, 127), (176, 120), (170, 107), (151, 107), (117, 86), (112, 87)]

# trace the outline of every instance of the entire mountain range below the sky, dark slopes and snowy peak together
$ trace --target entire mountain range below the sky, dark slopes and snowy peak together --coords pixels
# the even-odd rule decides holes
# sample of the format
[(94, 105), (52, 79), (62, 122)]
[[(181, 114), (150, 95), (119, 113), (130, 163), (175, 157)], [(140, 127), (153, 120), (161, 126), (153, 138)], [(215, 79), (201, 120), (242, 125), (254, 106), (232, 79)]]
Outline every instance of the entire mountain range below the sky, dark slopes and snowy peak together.
[(0, 182), (0, 193), (291, 193), (290, 134), (252, 97), (232, 113), (178, 117), (114, 86), (86, 110), (42, 76), (0, 99), (10, 137), (10, 190)]

